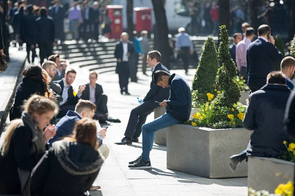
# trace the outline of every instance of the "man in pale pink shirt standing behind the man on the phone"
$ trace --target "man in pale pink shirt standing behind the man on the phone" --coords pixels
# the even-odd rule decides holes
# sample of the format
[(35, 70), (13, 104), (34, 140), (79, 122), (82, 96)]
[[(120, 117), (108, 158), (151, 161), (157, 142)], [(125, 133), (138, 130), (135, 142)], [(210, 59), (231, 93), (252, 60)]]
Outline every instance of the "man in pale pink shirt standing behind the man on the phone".
[(240, 76), (243, 76), (243, 78), (247, 79), (248, 74), (246, 71), (247, 68), (247, 49), (252, 43), (252, 39), (254, 38), (254, 28), (249, 27), (247, 28), (245, 32), (245, 39), (240, 41), (236, 45), (236, 67), (238, 72), (240, 73)]

